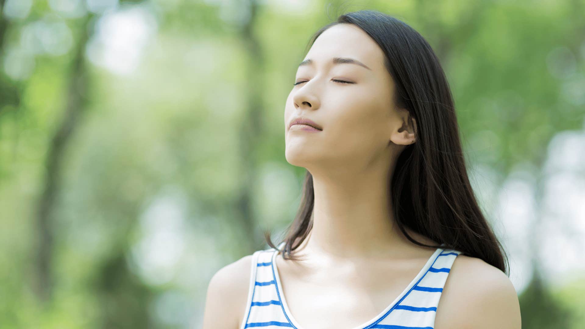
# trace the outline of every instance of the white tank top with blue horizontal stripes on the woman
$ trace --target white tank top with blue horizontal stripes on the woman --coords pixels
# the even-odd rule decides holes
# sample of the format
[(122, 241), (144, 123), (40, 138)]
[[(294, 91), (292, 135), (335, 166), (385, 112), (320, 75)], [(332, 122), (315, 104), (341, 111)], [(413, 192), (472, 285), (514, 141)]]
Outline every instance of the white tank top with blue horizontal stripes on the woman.
[[(282, 242), (278, 249), (282, 249)], [(441, 246), (443, 246), (442, 244)], [(352, 329), (432, 329), (443, 286), (457, 255), (463, 252), (437, 248), (400, 296), (376, 317)], [(277, 249), (252, 255), (246, 314), (240, 329), (291, 327), (302, 329), (291, 316), (276, 268)]]

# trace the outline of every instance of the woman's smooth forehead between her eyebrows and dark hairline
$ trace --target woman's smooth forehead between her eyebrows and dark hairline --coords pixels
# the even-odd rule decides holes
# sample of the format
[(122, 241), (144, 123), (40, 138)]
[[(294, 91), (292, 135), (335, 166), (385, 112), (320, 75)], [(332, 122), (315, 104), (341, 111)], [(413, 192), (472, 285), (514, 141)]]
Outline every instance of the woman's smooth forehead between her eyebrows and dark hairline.
[(378, 44), (353, 24), (338, 24), (326, 29), (305, 56), (318, 66), (329, 64), (333, 57), (351, 57), (373, 71), (383, 68), (384, 63), (384, 54)]

